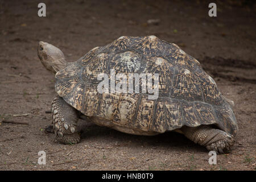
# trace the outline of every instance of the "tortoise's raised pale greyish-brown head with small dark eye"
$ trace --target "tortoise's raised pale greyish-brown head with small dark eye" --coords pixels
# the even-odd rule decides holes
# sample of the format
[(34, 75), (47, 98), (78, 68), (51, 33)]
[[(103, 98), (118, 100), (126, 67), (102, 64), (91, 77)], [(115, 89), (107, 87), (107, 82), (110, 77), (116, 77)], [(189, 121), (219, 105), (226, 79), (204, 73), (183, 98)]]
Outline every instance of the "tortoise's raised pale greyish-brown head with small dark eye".
[(38, 57), (44, 67), (53, 73), (67, 67), (63, 52), (52, 44), (40, 41), (38, 44)]

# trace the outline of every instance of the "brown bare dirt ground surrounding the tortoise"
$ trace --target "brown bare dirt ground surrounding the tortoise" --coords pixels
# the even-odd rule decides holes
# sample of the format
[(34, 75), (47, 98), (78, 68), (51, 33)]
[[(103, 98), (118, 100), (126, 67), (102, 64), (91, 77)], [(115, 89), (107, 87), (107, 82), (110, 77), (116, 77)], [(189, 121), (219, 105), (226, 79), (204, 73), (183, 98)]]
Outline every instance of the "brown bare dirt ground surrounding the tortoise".
[[(253, 1), (0, 1), (1, 170), (255, 170), (256, 9)], [(159, 19), (156, 24), (150, 19)], [(55, 77), (40, 63), (40, 40), (76, 61), (122, 35), (178, 44), (200, 61), (224, 96), (235, 102), (239, 132), (232, 151), (208, 163), (208, 151), (183, 135), (129, 135), (80, 121), (79, 144), (63, 145), (51, 123)], [(29, 125), (1, 121), (27, 122)], [(38, 152), (46, 152), (46, 165)]]

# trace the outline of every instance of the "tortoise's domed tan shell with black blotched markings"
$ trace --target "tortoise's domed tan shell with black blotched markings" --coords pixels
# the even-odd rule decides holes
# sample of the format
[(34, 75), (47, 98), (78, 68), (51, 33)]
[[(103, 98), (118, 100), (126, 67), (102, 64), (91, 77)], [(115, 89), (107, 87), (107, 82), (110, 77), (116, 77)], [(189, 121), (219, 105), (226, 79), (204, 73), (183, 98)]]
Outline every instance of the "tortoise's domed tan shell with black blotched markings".
[[(129, 73), (158, 73), (158, 98), (149, 100), (148, 92), (100, 94), (97, 86), (102, 80), (97, 76), (106, 73), (110, 78), (110, 69), (127, 77)], [(230, 101), (199, 61), (156, 36), (122, 36), (93, 48), (55, 77), (60, 97), (88, 117), (104, 119), (102, 122), (157, 133), (199, 125), (216, 125), (232, 135), (238, 130)]]

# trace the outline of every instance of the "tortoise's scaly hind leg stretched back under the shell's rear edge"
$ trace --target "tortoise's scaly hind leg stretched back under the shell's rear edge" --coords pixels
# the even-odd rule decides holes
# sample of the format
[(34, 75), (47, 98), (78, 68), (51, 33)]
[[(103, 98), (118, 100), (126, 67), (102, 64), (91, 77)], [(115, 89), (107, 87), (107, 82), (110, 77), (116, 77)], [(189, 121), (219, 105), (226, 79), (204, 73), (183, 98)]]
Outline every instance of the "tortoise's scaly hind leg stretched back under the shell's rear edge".
[(230, 150), (234, 144), (232, 135), (225, 131), (213, 129), (212, 126), (201, 125), (198, 127), (182, 127), (185, 137), (191, 139), (193, 142), (205, 146), (209, 151), (216, 151), (217, 153), (225, 153)]

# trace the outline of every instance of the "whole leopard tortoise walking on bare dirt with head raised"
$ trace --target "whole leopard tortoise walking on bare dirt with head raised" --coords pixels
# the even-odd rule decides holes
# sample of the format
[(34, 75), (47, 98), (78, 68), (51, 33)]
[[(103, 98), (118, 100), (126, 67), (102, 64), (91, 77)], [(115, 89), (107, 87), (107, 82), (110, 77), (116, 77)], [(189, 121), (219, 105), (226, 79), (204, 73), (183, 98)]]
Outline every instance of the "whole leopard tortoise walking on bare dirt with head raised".
[[(234, 102), (220, 93), (199, 61), (174, 43), (154, 35), (121, 36), (68, 63), (59, 48), (39, 42), (38, 56), (44, 67), (56, 74), (57, 97), (51, 111), (60, 143), (79, 143), (77, 121), (89, 118), (96, 125), (134, 135), (176, 131), (217, 153), (228, 152), (234, 144), (238, 132)], [(157, 97), (150, 98), (149, 89), (142, 92), (143, 84), (150, 83), (142, 77), (137, 84), (131, 77), (133, 92), (127, 92), (126, 85), (119, 85), (121, 91), (99, 87), (103, 73), (110, 76), (106, 84), (112, 82), (117, 87), (122, 82), (123, 78), (111, 77), (113, 70), (127, 77), (151, 74), (157, 83), (152, 86), (158, 88)], [(138, 86), (139, 92), (135, 92)]]

